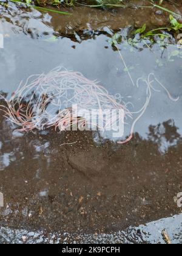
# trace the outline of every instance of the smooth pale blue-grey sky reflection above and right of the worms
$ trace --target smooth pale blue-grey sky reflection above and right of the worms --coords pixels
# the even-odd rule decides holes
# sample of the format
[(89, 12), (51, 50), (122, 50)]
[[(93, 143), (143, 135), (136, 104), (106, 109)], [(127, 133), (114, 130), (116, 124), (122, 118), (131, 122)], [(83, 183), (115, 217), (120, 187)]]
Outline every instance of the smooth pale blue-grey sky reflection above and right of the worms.
[[(80, 71), (90, 80), (97, 79), (101, 81), (100, 84), (110, 94), (120, 93), (124, 102), (132, 103), (129, 106), (131, 112), (137, 112), (143, 107), (146, 101), (146, 86), (141, 85), (140, 88), (132, 86), (127, 73), (124, 71), (118, 52), (113, 52), (112, 48), (104, 48), (105, 45), (109, 45), (106, 35), (101, 35), (96, 40), (83, 41), (81, 44), (76, 43), (76, 49), (72, 48), (72, 41), (67, 38), (59, 39), (55, 43), (49, 43), (29, 40), (29, 38), (19, 35), (16, 36), (17, 44), (14, 43), (15, 39), (13, 38), (7, 39), (5, 49), (0, 52), (1, 57), (5, 55), (5, 60), (9, 60), (12, 57), (12, 52), (15, 56), (10, 65), (8, 61), (0, 63), (1, 91), (11, 94), (16, 90), (22, 79), (25, 81), (31, 74), (41, 74), (44, 71), (47, 73), (61, 63), (69, 69)], [(20, 43), (21, 49), (19, 48)], [(120, 48), (122, 52), (122, 44)], [(174, 51), (175, 46), (168, 46), (167, 49), (168, 51)], [(130, 70), (134, 81), (138, 77), (147, 77), (149, 73), (153, 72), (166, 86), (167, 90), (172, 93), (174, 98), (181, 96), (181, 74), (179, 73), (179, 68), (177, 68), (177, 66), (180, 67), (178, 63), (181, 60), (178, 57), (174, 62), (165, 62), (164, 58), (164, 65), (158, 68), (156, 55), (160, 58), (161, 54), (158, 50), (155, 54), (150, 52), (150, 49), (135, 50), (133, 52), (128, 49), (122, 53), (127, 65), (129, 67), (134, 65), (134, 69)], [(51, 63), (49, 61), (50, 56)], [(79, 56), (82, 56), (82, 58)], [(155, 84), (155, 89), (161, 90), (157, 84)], [(181, 97), (178, 102), (171, 102), (163, 89), (160, 93), (153, 92), (149, 107), (140, 122), (137, 123), (135, 131), (146, 137), (147, 128), (150, 125), (155, 126), (168, 119), (173, 119), (175, 126), (179, 128), (178, 132), (181, 134), (181, 104)], [(136, 117), (137, 115), (135, 115)], [(131, 124), (132, 121), (125, 127), (125, 137), (129, 135)]]

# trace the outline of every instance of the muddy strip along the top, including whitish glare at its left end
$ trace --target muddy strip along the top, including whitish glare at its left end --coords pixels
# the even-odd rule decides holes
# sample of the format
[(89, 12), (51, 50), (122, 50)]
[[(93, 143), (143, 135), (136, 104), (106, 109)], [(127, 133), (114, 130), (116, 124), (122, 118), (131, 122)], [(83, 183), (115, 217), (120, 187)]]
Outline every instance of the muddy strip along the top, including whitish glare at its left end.
[[(146, 23), (149, 29), (161, 27), (169, 24), (169, 13), (156, 7), (137, 8), (137, 5), (149, 6), (149, 1), (131, 1), (135, 8), (117, 8), (117, 9), (95, 9), (84, 6), (64, 8), (62, 10), (72, 13), (72, 15), (60, 15), (58, 13), (39, 12), (35, 9), (24, 9), (12, 2), (8, 3), (8, 9), (2, 7), (1, 22), (6, 29), (6, 21), (11, 21), (13, 31), (25, 32), (32, 35), (33, 38), (50, 34), (52, 29), (55, 34), (69, 35), (79, 34), (82, 30), (96, 30), (99, 32), (108, 32), (108, 29), (120, 30), (124, 27), (141, 27)], [(178, 13), (182, 13), (182, 5), (164, 1), (163, 7)], [(26, 10), (26, 11), (25, 11)], [(29, 10), (27, 12), (27, 10)], [(44, 26), (38, 27), (38, 21), (43, 21)], [(46, 28), (49, 25), (49, 29)], [(43, 29), (43, 31), (42, 31)], [(45, 30), (44, 30), (45, 29)], [(89, 34), (89, 33), (88, 33)], [(88, 35), (87, 35), (88, 38)]]

